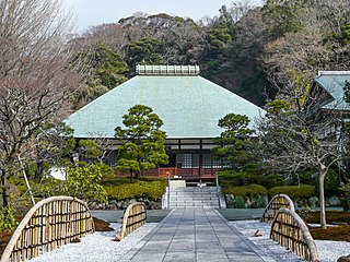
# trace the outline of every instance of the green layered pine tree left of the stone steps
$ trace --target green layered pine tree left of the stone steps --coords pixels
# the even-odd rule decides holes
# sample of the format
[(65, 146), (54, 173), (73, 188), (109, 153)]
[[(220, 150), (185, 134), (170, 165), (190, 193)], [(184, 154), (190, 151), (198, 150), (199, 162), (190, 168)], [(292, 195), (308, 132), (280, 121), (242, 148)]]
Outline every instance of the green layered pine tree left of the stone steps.
[(136, 105), (122, 118), (125, 127), (115, 129), (116, 138), (122, 142), (118, 147), (117, 169), (139, 178), (143, 170), (155, 168), (158, 164), (166, 164), (166, 133), (160, 129), (163, 121), (153, 109)]

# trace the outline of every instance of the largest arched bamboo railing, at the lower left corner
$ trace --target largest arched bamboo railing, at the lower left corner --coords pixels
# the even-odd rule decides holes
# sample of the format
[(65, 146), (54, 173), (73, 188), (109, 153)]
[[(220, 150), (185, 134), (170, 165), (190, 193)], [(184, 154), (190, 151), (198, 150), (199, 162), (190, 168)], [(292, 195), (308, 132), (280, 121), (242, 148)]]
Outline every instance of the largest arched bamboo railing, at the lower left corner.
[(12, 235), (1, 262), (25, 261), (94, 231), (85, 202), (52, 196), (34, 205)]

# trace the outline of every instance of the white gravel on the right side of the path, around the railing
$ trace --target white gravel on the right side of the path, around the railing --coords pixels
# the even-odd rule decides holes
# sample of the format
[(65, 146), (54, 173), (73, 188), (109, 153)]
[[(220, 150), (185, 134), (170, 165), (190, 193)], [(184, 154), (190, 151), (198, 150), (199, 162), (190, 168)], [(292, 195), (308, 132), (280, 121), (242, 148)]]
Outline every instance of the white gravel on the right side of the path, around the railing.
[[(271, 225), (258, 221), (230, 222), (243, 235), (257, 245), (266, 255), (273, 257), (278, 261), (305, 261), (291, 251), (269, 239)], [(256, 230), (260, 230), (261, 237), (253, 237)], [(350, 253), (350, 242), (315, 240), (318, 255), (322, 262), (335, 262), (341, 255)]]

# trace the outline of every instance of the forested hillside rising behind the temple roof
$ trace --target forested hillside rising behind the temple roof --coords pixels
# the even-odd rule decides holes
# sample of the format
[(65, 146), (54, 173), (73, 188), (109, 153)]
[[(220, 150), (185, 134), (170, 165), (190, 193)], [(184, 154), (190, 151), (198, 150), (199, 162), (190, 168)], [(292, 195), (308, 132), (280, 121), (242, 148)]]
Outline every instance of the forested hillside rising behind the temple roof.
[[(201, 21), (142, 12), (71, 40), (89, 68), (75, 107), (130, 79), (136, 64), (199, 64), (201, 75), (264, 106), (291, 95), (318, 70), (348, 70), (350, 1), (248, 0)], [(88, 66), (88, 67), (86, 67)]]

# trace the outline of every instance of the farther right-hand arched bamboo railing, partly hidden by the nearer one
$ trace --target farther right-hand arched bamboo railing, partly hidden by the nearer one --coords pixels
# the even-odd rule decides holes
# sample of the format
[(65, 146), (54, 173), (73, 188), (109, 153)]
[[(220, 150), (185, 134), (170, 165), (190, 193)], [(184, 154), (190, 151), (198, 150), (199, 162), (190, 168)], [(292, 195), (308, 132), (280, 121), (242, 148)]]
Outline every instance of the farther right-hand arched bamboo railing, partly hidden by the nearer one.
[(266, 206), (260, 222), (270, 223), (280, 209), (294, 210), (293, 201), (287, 194), (276, 194)]

